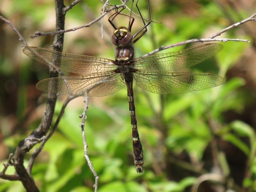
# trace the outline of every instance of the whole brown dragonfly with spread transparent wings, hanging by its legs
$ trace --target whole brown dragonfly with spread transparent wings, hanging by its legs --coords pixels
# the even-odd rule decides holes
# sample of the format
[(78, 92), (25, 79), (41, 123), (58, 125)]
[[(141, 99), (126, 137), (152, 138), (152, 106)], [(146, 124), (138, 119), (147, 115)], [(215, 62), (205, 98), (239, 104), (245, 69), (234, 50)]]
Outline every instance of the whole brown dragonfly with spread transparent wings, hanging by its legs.
[[(136, 7), (138, 7), (137, 3)], [(49, 67), (80, 74), (78, 76), (61, 76), (41, 80), (36, 84), (36, 88), (44, 92), (101, 97), (115, 93), (125, 86), (127, 87), (132, 124), (133, 157), (138, 173), (143, 172), (144, 161), (135, 115), (132, 88), (134, 80), (140, 88), (157, 94), (199, 91), (225, 83), (223, 77), (210, 73), (177, 72), (177, 70), (194, 66), (220, 52), (222, 49), (220, 44), (202, 44), (182, 51), (134, 58), (133, 44), (147, 32), (147, 26), (151, 22), (149, 0), (148, 11), (148, 22), (144, 21), (139, 11), (144, 26), (134, 35), (131, 33), (134, 21), (131, 15), (126, 15), (130, 18), (128, 28), (116, 28), (112, 22), (118, 14), (122, 13), (116, 11), (117, 13), (109, 17), (108, 21), (115, 29), (111, 37), (111, 41), (116, 45), (115, 60), (56, 52), (40, 47), (25, 47), (23, 49), (23, 53), (27, 56)], [(53, 58), (57, 58), (59, 66), (54, 65)]]

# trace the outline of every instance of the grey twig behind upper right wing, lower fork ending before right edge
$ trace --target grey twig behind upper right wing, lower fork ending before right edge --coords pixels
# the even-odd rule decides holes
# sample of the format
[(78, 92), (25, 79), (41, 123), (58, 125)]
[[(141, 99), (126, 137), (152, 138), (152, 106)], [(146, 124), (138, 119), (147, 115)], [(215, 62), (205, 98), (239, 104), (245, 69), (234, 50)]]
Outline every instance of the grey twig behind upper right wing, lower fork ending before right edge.
[(206, 39), (190, 39), (190, 40), (187, 40), (187, 41), (181, 41), (179, 43), (175, 43), (175, 44), (172, 44), (172, 45), (167, 45), (167, 46), (161, 46), (145, 55), (143, 55), (142, 57), (146, 57), (148, 55), (152, 55), (156, 52), (159, 52), (159, 51), (162, 51), (164, 49), (169, 49), (169, 48), (172, 48), (172, 47), (177, 47), (177, 46), (180, 46), (180, 45), (184, 45), (184, 44), (188, 44), (188, 43), (195, 43), (195, 42), (201, 42), (201, 43), (204, 43), (204, 42), (210, 42), (210, 41), (222, 41), (222, 42), (227, 42), (227, 41), (243, 41), (243, 42), (247, 42), (247, 43), (250, 43), (249, 40), (247, 39), (228, 39), (228, 38), (223, 38), (223, 39), (211, 39), (211, 38), (206, 38)]

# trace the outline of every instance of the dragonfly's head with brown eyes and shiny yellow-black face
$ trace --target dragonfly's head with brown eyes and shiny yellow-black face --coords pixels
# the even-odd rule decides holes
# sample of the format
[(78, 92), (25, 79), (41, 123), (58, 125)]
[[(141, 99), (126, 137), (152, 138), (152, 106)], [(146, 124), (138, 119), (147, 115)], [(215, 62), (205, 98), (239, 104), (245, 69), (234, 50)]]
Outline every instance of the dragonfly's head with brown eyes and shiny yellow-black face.
[(116, 46), (129, 45), (132, 42), (132, 33), (126, 27), (119, 27), (112, 35), (112, 43)]

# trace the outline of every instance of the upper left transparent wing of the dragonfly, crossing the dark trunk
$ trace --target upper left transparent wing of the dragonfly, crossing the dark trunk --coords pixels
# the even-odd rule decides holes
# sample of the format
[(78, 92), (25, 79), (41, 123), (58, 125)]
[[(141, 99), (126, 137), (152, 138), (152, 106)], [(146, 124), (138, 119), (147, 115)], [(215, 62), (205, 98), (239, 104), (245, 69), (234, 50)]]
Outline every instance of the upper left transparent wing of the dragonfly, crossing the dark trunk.
[[(25, 47), (23, 53), (52, 68), (72, 73), (91, 74), (116, 69), (113, 60), (100, 57), (62, 53), (41, 47)], [(54, 65), (53, 60), (56, 59), (60, 66)]]

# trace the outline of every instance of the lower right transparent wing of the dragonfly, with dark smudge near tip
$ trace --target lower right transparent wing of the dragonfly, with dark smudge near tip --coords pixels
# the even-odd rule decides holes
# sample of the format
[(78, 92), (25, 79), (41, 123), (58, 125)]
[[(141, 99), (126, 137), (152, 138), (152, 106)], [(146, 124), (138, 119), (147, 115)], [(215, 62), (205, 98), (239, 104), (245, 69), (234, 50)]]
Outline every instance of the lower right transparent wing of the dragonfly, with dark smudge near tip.
[(133, 75), (140, 88), (157, 94), (199, 91), (225, 83), (223, 77), (207, 73), (140, 71)]

